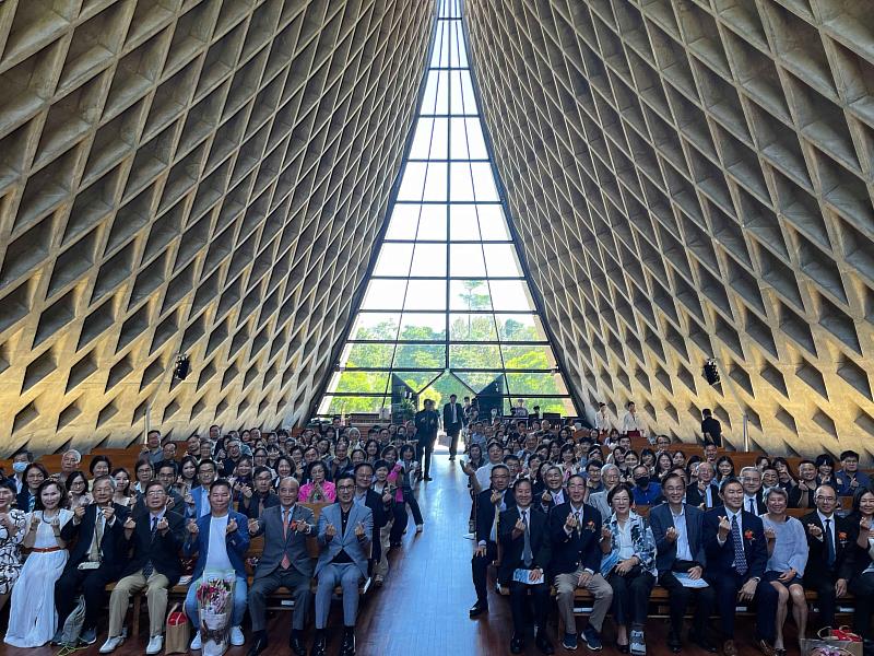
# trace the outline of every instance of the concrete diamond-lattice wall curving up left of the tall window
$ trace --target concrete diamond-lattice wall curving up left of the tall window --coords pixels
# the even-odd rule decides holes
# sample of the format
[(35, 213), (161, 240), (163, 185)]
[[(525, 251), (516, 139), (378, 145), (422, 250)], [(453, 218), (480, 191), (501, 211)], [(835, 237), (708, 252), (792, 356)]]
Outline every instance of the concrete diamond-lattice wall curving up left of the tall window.
[[(433, 2), (0, 3), (2, 454), (306, 415)], [(164, 372), (191, 355), (184, 383)]]

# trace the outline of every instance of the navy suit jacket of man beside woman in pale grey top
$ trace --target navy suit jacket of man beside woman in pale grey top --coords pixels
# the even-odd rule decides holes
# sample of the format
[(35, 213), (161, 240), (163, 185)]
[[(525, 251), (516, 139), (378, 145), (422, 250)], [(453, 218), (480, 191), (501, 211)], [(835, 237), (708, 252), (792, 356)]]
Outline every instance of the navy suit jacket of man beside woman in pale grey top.
[[(706, 574), (710, 581), (734, 572), (734, 540), (732, 540), (730, 532), (725, 543), (720, 546), (718, 539), (720, 516), (725, 516), (723, 506), (707, 511), (704, 515), (704, 547), (707, 553)], [(751, 534), (749, 537), (747, 537), (747, 531)], [(744, 543), (744, 555), (746, 557), (746, 577), (758, 576), (761, 578), (768, 564), (765, 529), (761, 525), (761, 519), (746, 511), (741, 512), (741, 539)]]

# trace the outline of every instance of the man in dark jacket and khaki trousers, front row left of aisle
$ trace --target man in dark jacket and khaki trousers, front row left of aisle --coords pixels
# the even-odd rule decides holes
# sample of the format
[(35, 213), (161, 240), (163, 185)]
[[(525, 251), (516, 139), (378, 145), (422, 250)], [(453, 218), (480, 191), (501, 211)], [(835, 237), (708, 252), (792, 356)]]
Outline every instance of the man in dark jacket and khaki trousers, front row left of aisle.
[(150, 626), (145, 653), (160, 654), (164, 647), (167, 589), (176, 585), (182, 574), (179, 548), (185, 519), (179, 513), (166, 512), (167, 491), (161, 481), (149, 481), (143, 496), (145, 509), (128, 516), (123, 523), (125, 543), (133, 551), (109, 597), (109, 635), (101, 654), (109, 654), (125, 642), (121, 624), (128, 613), (130, 596), (143, 588)]

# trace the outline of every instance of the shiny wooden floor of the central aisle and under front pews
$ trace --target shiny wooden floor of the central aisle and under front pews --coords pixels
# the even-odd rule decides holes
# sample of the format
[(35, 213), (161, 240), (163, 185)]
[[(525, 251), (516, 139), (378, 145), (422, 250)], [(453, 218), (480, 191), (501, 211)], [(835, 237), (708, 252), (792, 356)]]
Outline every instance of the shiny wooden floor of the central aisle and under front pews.
[[(464, 538), (468, 529), (470, 497), (466, 493), (465, 477), (458, 467), (448, 461), (445, 449), (435, 455), (434, 477), (423, 483), (418, 493), (422, 512), (425, 516), (425, 531), (415, 536), (412, 520), (404, 537), (404, 546), (389, 557), (391, 570), (386, 585), (375, 590), (363, 604), (358, 619), (359, 656), (472, 656), (509, 654), (511, 629), (508, 600), (494, 596), (489, 602), (489, 614), (477, 620), (468, 618), (468, 609), (474, 601), (471, 583), (470, 557), (472, 542)], [(8, 610), (2, 613), (5, 626)], [(311, 624), (311, 619), (310, 622)], [(787, 623), (787, 637), (794, 639), (794, 629)], [(342, 613), (335, 605), (330, 625), (339, 628)], [(147, 621), (143, 618), (143, 630)], [(287, 646), (291, 614), (277, 612), (269, 618), (271, 645), (265, 654), (291, 654)], [(572, 654), (562, 648), (555, 635), (555, 626), (550, 628), (556, 654)], [(613, 656), (618, 652), (613, 647), (613, 632), (610, 618), (605, 624), (602, 654)], [(752, 644), (751, 628), (739, 625), (739, 648), (742, 656), (757, 654)], [(650, 620), (647, 625), (648, 653), (656, 656), (670, 654), (665, 647), (666, 626), (662, 620)], [(249, 637), (248, 621), (246, 635)], [(97, 643), (76, 655), (96, 655), (105, 640), (105, 626)], [(145, 652), (145, 640), (128, 640), (115, 653), (118, 656), (133, 656)], [(307, 633), (307, 647), (311, 632)], [(787, 641), (790, 655), (798, 654), (793, 641)], [(334, 635), (329, 644), (329, 654), (338, 654), (340, 639)], [(228, 656), (245, 656), (248, 645), (235, 647)], [(587, 653), (580, 645), (576, 653)], [(51, 656), (57, 648), (17, 649), (0, 645), (0, 654), (9, 656)], [(527, 643), (528, 654), (539, 654), (533, 637)], [(705, 656), (706, 652), (687, 646), (684, 655)]]

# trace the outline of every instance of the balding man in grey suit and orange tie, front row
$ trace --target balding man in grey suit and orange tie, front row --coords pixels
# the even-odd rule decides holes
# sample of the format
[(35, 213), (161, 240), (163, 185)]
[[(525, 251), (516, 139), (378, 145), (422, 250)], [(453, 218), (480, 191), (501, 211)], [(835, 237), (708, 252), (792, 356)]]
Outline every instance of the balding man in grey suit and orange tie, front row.
[(255, 570), (249, 588), (249, 616), (252, 620), (252, 646), (249, 656), (267, 648), (267, 598), (280, 587), (294, 597), (294, 619), (288, 646), (297, 656), (305, 656), (304, 622), (312, 601), (309, 585), (312, 560), (307, 552), (307, 536), (315, 531), (312, 511), (297, 503), (300, 484), (292, 477), (280, 481), (280, 505), (264, 508), (260, 518), (249, 519), (249, 535), (264, 536), (264, 550)]

